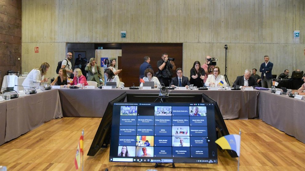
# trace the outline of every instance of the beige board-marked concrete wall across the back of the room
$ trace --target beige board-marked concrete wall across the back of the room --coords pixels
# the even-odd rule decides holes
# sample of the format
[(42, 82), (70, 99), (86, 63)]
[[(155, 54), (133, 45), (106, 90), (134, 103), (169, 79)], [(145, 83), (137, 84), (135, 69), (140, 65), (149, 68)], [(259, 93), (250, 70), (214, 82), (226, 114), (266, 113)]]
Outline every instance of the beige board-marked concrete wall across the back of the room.
[(22, 72), (48, 62), (54, 77), (66, 43), (100, 42), (183, 43), (188, 77), (194, 61), (203, 64), (207, 55), (219, 59), (224, 74), (228, 44), (230, 83), (247, 68), (259, 69), (264, 55), (273, 74), (305, 70), (304, 8), (303, 0), (24, 0)]

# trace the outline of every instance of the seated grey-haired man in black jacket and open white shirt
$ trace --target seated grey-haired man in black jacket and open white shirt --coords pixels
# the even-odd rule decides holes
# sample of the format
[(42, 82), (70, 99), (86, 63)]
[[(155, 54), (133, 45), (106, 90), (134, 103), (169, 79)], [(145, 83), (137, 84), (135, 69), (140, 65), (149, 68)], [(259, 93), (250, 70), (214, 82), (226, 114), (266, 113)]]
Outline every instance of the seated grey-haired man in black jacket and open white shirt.
[(244, 87), (258, 87), (259, 85), (255, 81), (254, 77), (251, 77), (252, 70), (245, 70), (245, 74), (242, 76), (238, 76), (233, 83), (233, 87), (237, 89), (242, 89)]

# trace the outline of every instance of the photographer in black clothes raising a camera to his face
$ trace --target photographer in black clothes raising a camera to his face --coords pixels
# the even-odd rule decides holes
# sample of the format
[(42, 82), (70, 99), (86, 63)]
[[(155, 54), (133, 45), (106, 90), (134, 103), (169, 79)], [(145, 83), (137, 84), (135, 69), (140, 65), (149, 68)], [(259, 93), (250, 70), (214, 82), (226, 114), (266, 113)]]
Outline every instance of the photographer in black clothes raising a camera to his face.
[(172, 70), (176, 70), (174, 63), (175, 58), (169, 58), (167, 53), (163, 53), (161, 60), (157, 62), (158, 71), (156, 72), (156, 77), (159, 79), (160, 84), (168, 87), (170, 82), (172, 82)]

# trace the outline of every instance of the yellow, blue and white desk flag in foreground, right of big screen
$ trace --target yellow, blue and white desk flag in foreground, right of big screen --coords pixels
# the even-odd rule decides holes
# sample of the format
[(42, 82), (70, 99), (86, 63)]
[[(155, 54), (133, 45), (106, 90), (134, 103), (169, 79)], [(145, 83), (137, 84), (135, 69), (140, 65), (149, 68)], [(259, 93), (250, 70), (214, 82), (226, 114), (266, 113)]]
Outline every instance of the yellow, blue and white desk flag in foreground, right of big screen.
[(233, 150), (240, 156), (240, 135), (231, 134), (220, 137), (215, 141), (222, 149)]

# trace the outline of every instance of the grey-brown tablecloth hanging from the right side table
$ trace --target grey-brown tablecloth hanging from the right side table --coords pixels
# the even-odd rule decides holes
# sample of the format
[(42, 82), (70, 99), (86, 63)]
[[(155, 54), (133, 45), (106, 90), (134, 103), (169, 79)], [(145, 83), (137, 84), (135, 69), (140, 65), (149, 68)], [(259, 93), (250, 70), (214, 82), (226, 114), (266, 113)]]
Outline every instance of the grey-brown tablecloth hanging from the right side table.
[(259, 118), (305, 143), (305, 100), (262, 91), (258, 98)]

